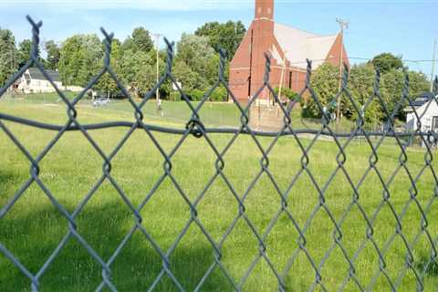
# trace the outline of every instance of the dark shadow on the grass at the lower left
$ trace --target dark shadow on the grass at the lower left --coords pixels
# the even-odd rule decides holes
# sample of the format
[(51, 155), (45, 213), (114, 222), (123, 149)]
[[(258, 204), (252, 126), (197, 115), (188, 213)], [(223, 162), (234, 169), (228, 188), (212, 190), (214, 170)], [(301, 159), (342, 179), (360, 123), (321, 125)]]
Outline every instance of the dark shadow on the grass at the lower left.
[[(32, 273), (36, 273), (43, 266), (57, 248), (60, 239), (68, 232), (67, 220), (61, 214), (54, 214), (53, 209), (47, 203), (42, 208), (32, 208), (32, 211), (18, 214), (14, 218), (6, 216), (0, 224), (2, 243), (20, 261), (23, 261), (22, 263)], [(133, 225), (133, 216), (130, 212), (120, 209), (120, 203), (105, 203), (99, 207), (87, 206), (84, 209), (85, 215), (78, 215), (78, 233), (104, 260), (109, 260)], [(114, 213), (109, 210), (118, 210), (115, 214), (117, 217), (111, 218)], [(148, 218), (144, 218), (145, 222), (147, 220)], [(45, 224), (47, 221), (50, 223)], [(35, 228), (36, 226), (38, 228)], [(26, 228), (26, 232), (20, 232), (22, 231), (20, 228), (23, 227)], [(12, 238), (9, 229), (15, 228), (17, 228), (16, 233), (12, 232), (12, 234), (16, 236)], [(158, 242), (162, 241), (162, 238), (154, 239)], [(167, 240), (174, 239), (167, 238)], [(170, 270), (184, 289), (193, 290), (209, 266), (214, 263), (214, 250), (206, 243), (180, 245), (169, 258)], [(153, 285), (162, 271), (162, 257), (138, 230), (132, 235), (110, 269), (111, 282), (119, 290), (143, 291)], [(3, 254), (0, 255), (0, 270), (2, 271), (0, 291), (30, 290), (31, 281)], [(41, 291), (94, 290), (102, 281), (101, 273), (102, 268), (99, 263), (72, 236), (40, 278), (40, 289)], [(227, 291), (232, 290), (233, 287), (216, 268), (203, 283), (203, 289)], [(178, 288), (174, 286), (170, 277), (164, 275), (155, 290), (176, 291)]]

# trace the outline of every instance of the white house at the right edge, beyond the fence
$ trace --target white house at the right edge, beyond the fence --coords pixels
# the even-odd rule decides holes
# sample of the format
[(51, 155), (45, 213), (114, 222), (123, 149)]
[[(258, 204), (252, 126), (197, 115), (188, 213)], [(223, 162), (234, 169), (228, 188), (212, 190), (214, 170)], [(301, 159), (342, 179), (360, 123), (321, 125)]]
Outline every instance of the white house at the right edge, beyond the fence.
[[(438, 96), (436, 97), (438, 98)], [(413, 107), (417, 111), (420, 121), (422, 122), (422, 131), (433, 130), (438, 132), (438, 105), (433, 99), (432, 93), (423, 93), (419, 98), (412, 102)], [(417, 117), (415, 116), (412, 107), (404, 109), (407, 113), (407, 130), (417, 130)]]

